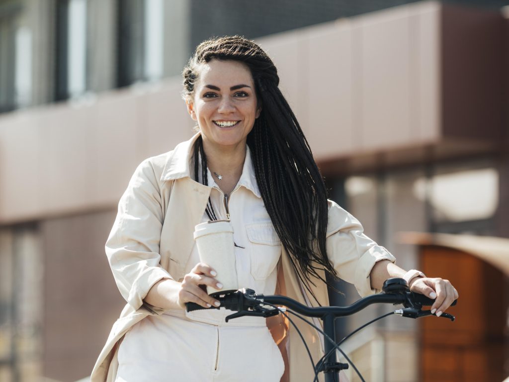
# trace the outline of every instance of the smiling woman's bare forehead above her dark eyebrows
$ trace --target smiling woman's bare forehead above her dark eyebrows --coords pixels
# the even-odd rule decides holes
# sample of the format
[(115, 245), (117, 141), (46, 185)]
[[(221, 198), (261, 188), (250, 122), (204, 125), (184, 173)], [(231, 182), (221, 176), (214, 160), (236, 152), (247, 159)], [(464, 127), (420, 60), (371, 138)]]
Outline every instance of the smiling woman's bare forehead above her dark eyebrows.
[(253, 84), (249, 68), (238, 61), (211, 60), (200, 64), (198, 86), (215, 85), (230, 87), (238, 84)]

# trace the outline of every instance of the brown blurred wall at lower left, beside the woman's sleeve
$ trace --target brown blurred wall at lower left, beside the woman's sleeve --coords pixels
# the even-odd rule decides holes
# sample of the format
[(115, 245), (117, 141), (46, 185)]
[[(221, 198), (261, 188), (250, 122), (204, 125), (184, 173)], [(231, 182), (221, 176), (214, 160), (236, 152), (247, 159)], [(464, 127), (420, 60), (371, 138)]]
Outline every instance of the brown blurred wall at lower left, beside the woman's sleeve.
[(51, 380), (90, 375), (125, 305), (104, 256), (104, 242), (115, 215), (112, 210), (41, 223), (41, 374)]

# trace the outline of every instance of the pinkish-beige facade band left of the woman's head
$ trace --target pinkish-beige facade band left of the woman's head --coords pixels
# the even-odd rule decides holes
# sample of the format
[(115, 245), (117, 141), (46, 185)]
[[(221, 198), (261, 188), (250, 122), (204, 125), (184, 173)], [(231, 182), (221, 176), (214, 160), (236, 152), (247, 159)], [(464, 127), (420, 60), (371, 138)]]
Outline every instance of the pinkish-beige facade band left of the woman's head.
[(114, 207), (136, 166), (192, 135), (180, 80), (0, 118), (0, 223)]

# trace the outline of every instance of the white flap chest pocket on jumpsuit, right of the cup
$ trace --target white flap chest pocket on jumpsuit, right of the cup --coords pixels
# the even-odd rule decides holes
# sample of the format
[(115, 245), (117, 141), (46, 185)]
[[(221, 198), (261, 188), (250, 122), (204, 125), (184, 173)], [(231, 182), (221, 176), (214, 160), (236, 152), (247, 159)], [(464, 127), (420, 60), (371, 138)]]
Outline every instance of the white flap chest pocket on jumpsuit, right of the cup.
[(251, 276), (265, 280), (275, 269), (281, 255), (281, 240), (272, 223), (246, 225), (251, 258)]

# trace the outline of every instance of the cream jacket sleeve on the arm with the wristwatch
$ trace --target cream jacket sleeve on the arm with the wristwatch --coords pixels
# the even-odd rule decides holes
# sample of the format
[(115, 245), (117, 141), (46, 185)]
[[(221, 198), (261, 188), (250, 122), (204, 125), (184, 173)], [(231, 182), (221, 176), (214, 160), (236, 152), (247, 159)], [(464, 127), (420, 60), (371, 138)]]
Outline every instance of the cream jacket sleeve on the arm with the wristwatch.
[(396, 259), (385, 248), (364, 235), (354, 216), (329, 200), (327, 256), (338, 276), (355, 285), (361, 297), (378, 293), (371, 288), (370, 273), (379, 260)]

